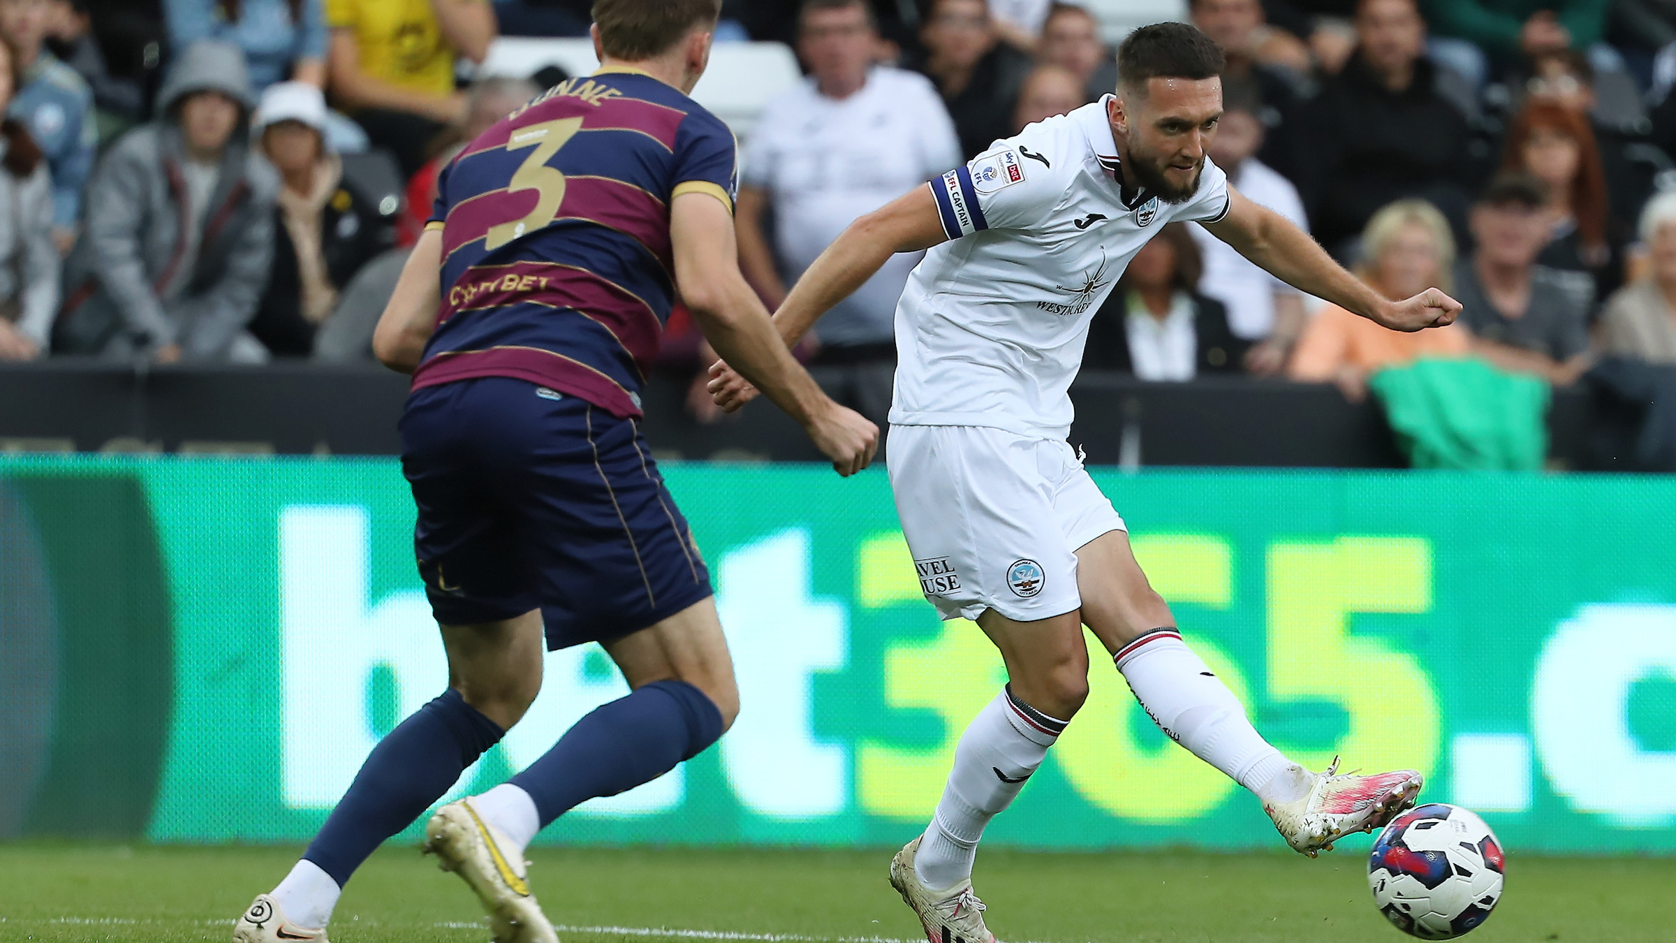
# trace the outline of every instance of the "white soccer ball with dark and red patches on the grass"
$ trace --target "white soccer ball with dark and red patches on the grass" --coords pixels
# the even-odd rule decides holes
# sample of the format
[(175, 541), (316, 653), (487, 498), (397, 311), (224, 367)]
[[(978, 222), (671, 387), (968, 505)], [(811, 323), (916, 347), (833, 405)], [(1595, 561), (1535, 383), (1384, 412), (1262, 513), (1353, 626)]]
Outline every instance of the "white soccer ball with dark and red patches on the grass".
[(1379, 913), (1421, 940), (1453, 940), (1483, 923), (1502, 899), (1502, 842), (1483, 819), (1435, 802), (1399, 815), (1368, 856)]

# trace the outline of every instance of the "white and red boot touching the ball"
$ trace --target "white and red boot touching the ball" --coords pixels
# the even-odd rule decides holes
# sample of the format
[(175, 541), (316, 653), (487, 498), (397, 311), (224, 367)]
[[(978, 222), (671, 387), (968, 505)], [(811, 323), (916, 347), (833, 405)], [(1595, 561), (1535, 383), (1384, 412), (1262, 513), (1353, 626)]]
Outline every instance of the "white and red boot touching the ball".
[(1292, 846), (1292, 851), (1316, 857), (1332, 851), (1332, 842), (1353, 832), (1383, 829), (1404, 809), (1415, 805), (1425, 779), (1415, 770), (1378, 775), (1339, 775), (1334, 757), (1326, 772), (1312, 774), (1309, 794), (1296, 802), (1265, 802), (1264, 812)]

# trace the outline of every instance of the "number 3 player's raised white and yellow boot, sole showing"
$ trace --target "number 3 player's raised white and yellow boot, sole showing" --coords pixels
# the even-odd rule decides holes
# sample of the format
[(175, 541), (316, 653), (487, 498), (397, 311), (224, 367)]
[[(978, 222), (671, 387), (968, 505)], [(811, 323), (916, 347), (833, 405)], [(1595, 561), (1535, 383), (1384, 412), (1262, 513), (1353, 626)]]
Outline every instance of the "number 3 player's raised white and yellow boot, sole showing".
[(424, 851), (437, 856), (442, 871), (459, 874), (489, 914), (494, 943), (558, 943), (553, 925), (530, 893), (521, 854), (501, 849), (513, 842), (484, 822), (469, 799), (436, 810), (424, 827)]

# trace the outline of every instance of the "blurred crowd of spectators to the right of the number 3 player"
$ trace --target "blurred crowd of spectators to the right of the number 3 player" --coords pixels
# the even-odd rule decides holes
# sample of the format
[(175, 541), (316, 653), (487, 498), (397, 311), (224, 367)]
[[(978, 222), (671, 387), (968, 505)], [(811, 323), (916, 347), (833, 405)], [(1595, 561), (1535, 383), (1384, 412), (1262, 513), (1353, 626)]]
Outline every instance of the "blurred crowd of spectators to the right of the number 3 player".
[[(1111, 49), (1086, 7), (929, 0), (915, 22), (902, 8), (813, 0), (778, 27), (798, 37), (811, 76), (769, 106), (746, 144), (741, 252), (769, 305), (858, 213), (939, 173), (937, 161), (915, 161), (929, 153), (917, 143), (927, 133), (952, 121), (972, 158), (1115, 86)], [(1088, 369), (1146, 381), (1285, 376), (1361, 399), (1369, 378), (1421, 359), (1473, 359), (1560, 386), (1601, 357), (1673, 359), (1676, 203), (1658, 193), (1676, 186), (1676, 45), (1626, 42), (1626, 23), (1676, 25), (1676, 7), (1192, 0), (1188, 15), (1229, 55), (1208, 153), (1234, 186), (1309, 228), (1381, 292), (1438, 285), (1466, 307), (1455, 327), (1391, 334), (1304, 297), (1198, 225), (1166, 227), (1094, 317)], [(835, 81), (820, 47), (836, 22), (855, 44), (851, 62), (875, 50), (865, 77), (851, 64)], [(927, 117), (912, 72), (930, 81), (947, 121)], [(878, 128), (918, 128), (892, 134), (903, 146), (878, 193), (861, 193), (887, 176), (877, 151), (855, 161), (836, 131), (838, 116), (861, 109), (880, 111), (870, 117)], [(858, 176), (786, 171), (825, 159), (872, 166)], [(841, 351), (870, 317), (880, 342), (868, 341), (868, 366), (888, 371), (882, 341), (897, 287), (900, 277), (877, 299), (858, 295), (855, 312), (818, 326), (820, 341)], [(694, 411), (711, 418), (699, 399)]]

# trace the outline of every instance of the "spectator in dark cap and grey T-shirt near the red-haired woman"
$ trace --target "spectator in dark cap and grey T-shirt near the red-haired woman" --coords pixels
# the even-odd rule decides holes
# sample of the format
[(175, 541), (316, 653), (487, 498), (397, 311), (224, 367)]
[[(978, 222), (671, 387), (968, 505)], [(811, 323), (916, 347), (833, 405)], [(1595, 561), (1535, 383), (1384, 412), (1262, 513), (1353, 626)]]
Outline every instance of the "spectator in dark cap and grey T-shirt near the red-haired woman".
[(1569, 384), (1589, 364), (1594, 282), (1537, 265), (1552, 233), (1542, 181), (1503, 173), (1472, 208), (1472, 258), (1455, 267), (1460, 324), (1473, 351), (1502, 369)]

